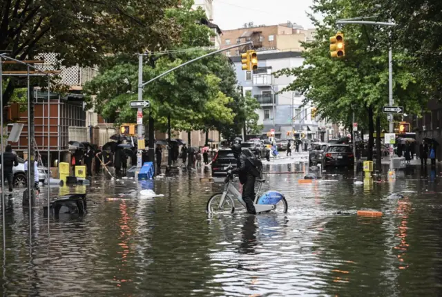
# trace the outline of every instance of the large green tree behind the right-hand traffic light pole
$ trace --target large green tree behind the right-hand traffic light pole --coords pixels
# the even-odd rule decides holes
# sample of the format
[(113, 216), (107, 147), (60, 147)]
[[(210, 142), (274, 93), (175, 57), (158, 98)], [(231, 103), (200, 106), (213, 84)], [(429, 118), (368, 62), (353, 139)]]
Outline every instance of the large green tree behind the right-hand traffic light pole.
[[(285, 90), (300, 90), (305, 103), (311, 102), (322, 117), (332, 122), (342, 122), (350, 127), (352, 113), (356, 122), (369, 127), (369, 155), (372, 160), (374, 144), (374, 117), (383, 116), (381, 108), (388, 102), (388, 57), (385, 50), (376, 47), (386, 40), (387, 31), (377, 26), (347, 25), (342, 29), (345, 36), (345, 57), (332, 59), (329, 54), (329, 37), (338, 31), (337, 19), (372, 15), (360, 2), (350, 0), (315, 0), (314, 13), (324, 16), (315, 24), (315, 39), (304, 43), (305, 61), (302, 66), (284, 69), (276, 73), (292, 75), (296, 80)], [(394, 100), (407, 106), (407, 113), (419, 113), (425, 102), (423, 83), (414, 68), (412, 57), (405, 52), (394, 52)]]

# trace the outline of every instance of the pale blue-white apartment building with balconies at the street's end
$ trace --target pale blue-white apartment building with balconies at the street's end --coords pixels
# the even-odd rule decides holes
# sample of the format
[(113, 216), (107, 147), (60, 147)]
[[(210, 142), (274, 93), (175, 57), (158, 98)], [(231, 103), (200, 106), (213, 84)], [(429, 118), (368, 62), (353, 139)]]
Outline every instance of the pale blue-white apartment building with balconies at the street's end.
[(273, 73), (283, 68), (302, 65), (301, 52), (262, 52), (259, 54), (258, 69), (253, 73), (242, 70), (241, 58), (231, 57), (235, 64), (238, 84), (244, 93), (251, 92), (260, 103), (258, 124), (264, 126), (262, 134), (272, 131), (280, 139), (305, 137), (327, 141), (332, 138), (327, 123), (311, 116), (311, 104), (305, 104), (305, 97), (298, 91), (279, 93), (289, 86), (295, 77), (274, 77)]

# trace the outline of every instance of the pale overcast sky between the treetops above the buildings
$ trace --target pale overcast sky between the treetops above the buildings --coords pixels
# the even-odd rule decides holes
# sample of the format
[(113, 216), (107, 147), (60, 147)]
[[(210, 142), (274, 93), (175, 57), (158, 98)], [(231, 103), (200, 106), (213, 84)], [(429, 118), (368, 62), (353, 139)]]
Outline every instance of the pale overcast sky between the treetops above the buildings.
[(304, 28), (313, 28), (306, 11), (312, 0), (213, 0), (213, 22), (221, 30), (255, 25), (276, 25), (291, 21)]

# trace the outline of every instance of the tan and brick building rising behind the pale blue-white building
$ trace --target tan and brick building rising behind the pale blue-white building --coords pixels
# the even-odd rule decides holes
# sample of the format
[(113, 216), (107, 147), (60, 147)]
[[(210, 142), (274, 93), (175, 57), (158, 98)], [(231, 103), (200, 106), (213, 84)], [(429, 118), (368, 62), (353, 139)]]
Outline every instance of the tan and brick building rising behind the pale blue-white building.
[[(301, 42), (310, 41), (314, 38), (314, 29), (304, 29), (296, 23), (282, 23), (272, 26), (255, 26), (253, 23), (245, 23), (243, 28), (224, 30), (221, 37), (221, 48), (227, 48), (233, 44), (245, 41), (253, 41), (253, 47), (257, 51), (293, 51), (301, 52)], [(244, 52), (243, 48), (236, 48), (225, 52), (227, 57), (236, 57)]]

